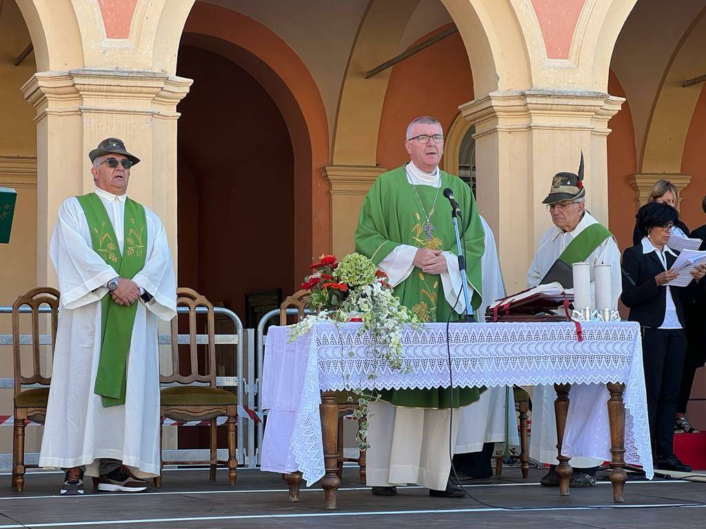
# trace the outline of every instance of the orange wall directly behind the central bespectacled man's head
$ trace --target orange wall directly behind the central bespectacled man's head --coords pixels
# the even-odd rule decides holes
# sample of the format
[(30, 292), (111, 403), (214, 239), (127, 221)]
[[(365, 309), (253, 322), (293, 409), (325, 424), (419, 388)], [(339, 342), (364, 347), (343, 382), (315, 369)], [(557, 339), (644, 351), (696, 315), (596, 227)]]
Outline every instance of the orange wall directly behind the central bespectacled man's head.
[[(417, 42), (448, 27), (438, 28)], [(458, 106), (471, 99), (471, 67), (458, 33), (397, 63), (393, 66), (385, 93), (378, 135), (378, 165), (394, 169), (409, 161), (405, 150), (405, 131), (409, 121), (419, 116), (432, 116), (448, 133), (458, 114)]]

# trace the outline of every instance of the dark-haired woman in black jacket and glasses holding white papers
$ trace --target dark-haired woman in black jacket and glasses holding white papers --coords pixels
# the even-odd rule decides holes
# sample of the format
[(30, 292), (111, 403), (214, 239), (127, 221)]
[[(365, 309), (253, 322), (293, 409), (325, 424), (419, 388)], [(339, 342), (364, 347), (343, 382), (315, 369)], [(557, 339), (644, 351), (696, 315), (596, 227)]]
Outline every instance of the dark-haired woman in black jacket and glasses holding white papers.
[[(678, 218), (674, 207), (660, 202), (640, 208), (637, 219), (643, 237), (640, 244), (623, 253), (621, 300), (630, 309), (629, 320), (642, 326), (642, 363), (655, 466), (690, 472), (690, 466), (674, 455), (674, 414), (686, 353), (682, 297), (685, 291), (696, 288), (694, 281), (684, 288), (667, 286), (678, 275), (669, 272), (677, 255), (666, 245)], [(696, 281), (705, 274), (706, 265), (698, 265), (692, 272)], [(698, 288), (702, 287), (699, 284)]]

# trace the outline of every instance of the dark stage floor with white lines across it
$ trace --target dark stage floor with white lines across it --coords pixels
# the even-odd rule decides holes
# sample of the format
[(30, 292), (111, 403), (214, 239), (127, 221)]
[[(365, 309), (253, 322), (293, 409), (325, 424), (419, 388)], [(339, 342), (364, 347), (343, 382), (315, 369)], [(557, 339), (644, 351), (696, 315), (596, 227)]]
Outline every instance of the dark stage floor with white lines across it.
[[(706, 483), (635, 478), (626, 485), (626, 502), (613, 503), (609, 482), (590, 489), (539, 486), (544, 473), (505, 468), (492, 485), (467, 487), (474, 497), (430, 498), (417, 487), (400, 488), (397, 497), (375, 497), (358, 480), (357, 467), (347, 467), (338, 496), (338, 511), (323, 509), (323, 492), (301, 490), (301, 502), (287, 501), (280, 475), (240, 469), (235, 487), (227, 486), (227, 470), (217, 482), (208, 470), (167, 470), (162, 488), (143, 493), (94, 493), (60, 497), (61, 473), (27, 475), (25, 492), (11, 492), (10, 476), (0, 477), (0, 529), (6, 528), (674, 528), (700, 527), (706, 516)], [(604, 473), (599, 474), (599, 477)], [(87, 484), (88, 485), (88, 484)]]

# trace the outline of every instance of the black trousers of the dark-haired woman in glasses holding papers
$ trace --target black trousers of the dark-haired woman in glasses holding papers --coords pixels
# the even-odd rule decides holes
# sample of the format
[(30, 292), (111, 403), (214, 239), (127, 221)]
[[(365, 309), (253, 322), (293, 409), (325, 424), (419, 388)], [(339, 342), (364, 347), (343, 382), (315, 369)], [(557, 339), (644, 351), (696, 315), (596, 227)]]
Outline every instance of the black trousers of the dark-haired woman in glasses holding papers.
[(642, 327), (642, 364), (647, 388), (652, 454), (674, 454), (674, 414), (686, 354), (684, 329)]

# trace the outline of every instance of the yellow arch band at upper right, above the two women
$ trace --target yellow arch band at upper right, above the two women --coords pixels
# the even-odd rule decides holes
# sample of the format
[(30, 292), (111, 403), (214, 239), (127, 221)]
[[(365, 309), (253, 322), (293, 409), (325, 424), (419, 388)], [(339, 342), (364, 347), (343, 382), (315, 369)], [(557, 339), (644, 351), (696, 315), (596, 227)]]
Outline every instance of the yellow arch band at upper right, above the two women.
[(706, 8), (696, 16), (672, 54), (654, 99), (647, 133), (638, 153), (639, 173), (681, 173), (691, 117), (702, 85), (684, 80), (706, 70)]

